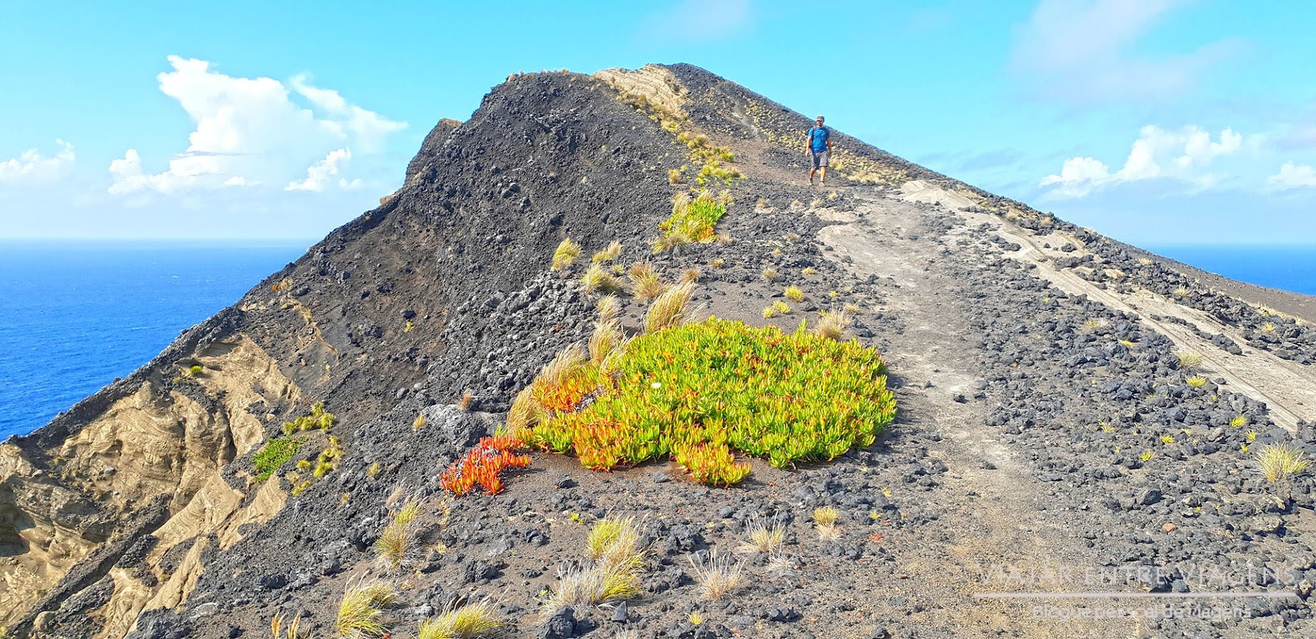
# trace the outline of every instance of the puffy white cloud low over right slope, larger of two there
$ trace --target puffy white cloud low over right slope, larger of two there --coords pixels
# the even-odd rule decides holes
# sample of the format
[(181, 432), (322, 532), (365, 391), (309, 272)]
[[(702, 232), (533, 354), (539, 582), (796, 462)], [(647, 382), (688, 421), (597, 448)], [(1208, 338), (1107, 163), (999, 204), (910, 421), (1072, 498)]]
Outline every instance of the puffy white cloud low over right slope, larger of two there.
[(1216, 158), (1236, 154), (1242, 147), (1244, 138), (1233, 129), (1224, 129), (1219, 142), (1212, 142), (1211, 134), (1199, 126), (1175, 131), (1148, 125), (1133, 141), (1119, 171), (1111, 172), (1104, 162), (1095, 158), (1070, 158), (1059, 174), (1042, 178), (1041, 185), (1053, 187), (1051, 193), (1057, 196), (1082, 197), (1109, 184), (1161, 178), (1188, 183), (1200, 191), (1221, 179), (1207, 172)]

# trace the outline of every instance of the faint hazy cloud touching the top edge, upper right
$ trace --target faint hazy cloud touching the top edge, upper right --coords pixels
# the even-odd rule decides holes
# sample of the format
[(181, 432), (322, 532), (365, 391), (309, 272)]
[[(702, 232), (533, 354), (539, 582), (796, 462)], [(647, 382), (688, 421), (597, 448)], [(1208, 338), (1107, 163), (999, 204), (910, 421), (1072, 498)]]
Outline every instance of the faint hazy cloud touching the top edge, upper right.
[(1042, 0), (1017, 30), (1013, 68), (1045, 99), (1091, 104), (1182, 96), (1237, 46), (1212, 42), (1161, 58), (1129, 51), (1158, 18), (1183, 4), (1187, 0)]

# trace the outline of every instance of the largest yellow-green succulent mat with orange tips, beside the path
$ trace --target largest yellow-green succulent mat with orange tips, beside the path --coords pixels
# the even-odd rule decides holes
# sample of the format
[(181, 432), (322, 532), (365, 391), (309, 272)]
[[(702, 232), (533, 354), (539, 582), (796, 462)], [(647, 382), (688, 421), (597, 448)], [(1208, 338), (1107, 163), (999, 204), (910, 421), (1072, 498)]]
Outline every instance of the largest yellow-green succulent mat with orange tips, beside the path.
[(526, 437), (588, 468), (670, 455), (709, 484), (730, 484), (747, 471), (732, 450), (779, 468), (828, 460), (871, 444), (895, 417), (875, 350), (774, 326), (709, 318), (650, 331), (612, 373), (587, 408), (546, 410)]

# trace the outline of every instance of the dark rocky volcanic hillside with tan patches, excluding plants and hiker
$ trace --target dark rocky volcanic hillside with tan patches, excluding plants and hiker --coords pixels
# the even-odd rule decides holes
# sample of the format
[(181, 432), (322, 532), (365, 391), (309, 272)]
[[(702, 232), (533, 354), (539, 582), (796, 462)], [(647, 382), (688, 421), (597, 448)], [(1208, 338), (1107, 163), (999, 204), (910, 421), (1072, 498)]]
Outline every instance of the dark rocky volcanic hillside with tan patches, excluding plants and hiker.
[[(669, 118), (729, 146), (745, 179), (728, 187), (736, 204), (717, 229), (729, 239), (651, 255), (695, 172)], [(441, 122), (378, 209), (132, 376), (0, 444), (0, 623), (20, 636), (228, 638), (266, 636), (282, 614), (334, 636), (343, 589), (378, 577), (400, 593), (386, 610), (393, 636), (482, 597), (513, 623), (508, 636), (1316, 631), (1312, 483), (1269, 484), (1253, 458), (1316, 440), (1309, 326), (844, 134), (833, 181), (811, 188), (805, 126), (686, 64), (509, 78), (468, 121)], [(794, 327), (854, 305), (851, 334), (891, 367), (896, 425), (829, 464), (754, 462), (734, 489), (536, 454), (505, 493), (450, 498), (440, 471), (592, 329), (594, 298), (549, 270), (567, 237), (586, 255), (620, 241), (617, 263), (653, 259), (669, 280), (699, 268), (700, 317)], [(786, 284), (805, 301), (763, 320)], [(636, 330), (645, 305), (624, 301)], [(1202, 354), (1199, 371), (1177, 366), (1184, 351)], [(321, 401), (337, 423), (303, 435), (291, 462), (340, 450), (337, 467), (254, 480), (254, 454)], [(371, 544), (407, 497), (421, 500), (429, 550), (390, 575)], [(838, 539), (811, 527), (819, 505), (841, 511)], [(640, 518), (647, 593), (545, 623), (538, 593), (608, 514)], [(784, 527), (790, 560), (747, 556), (747, 585), (700, 598), (687, 557), (734, 548), (753, 521)], [(1003, 581), (1000, 565), (1079, 577)], [(1083, 579), (1094, 573), (1111, 579)], [(992, 598), (1017, 590), (1134, 598)], [(1146, 597), (1225, 590), (1254, 596)], [(1246, 615), (1100, 614), (1184, 602)], [(1037, 604), (1074, 618), (1038, 618)]]

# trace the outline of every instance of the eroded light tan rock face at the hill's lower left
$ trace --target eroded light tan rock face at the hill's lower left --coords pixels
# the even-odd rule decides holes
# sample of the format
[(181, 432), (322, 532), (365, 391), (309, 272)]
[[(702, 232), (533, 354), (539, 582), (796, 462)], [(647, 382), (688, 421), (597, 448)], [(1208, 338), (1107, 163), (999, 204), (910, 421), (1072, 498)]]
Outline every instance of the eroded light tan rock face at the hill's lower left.
[[(201, 372), (186, 375), (193, 364)], [(161, 498), (163, 525), (143, 531), (159, 539), (147, 567), (196, 540), (191, 561), (155, 588), (112, 569), (114, 594), (100, 614), (132, 619), (143, 606), (186, 601), (211, 535), (228, 547), (240, 539), (238, 526), (265, 522), (283, 506), (276, 484), (247, 498), (246, 486), (230, 486), (220, 471), (265, 440), (258, 415), (267, 406), (297, 400), (300, 389), (278, 363), (237, 335), (174, 371), (155, 371), (58, 448), (0, 444), (0, 626), (28, 614), (74, 565), (124, 532), (122, 522)], [(104, 636), (122, 636), (130, 623), (120, 626), (107, 623)]]

